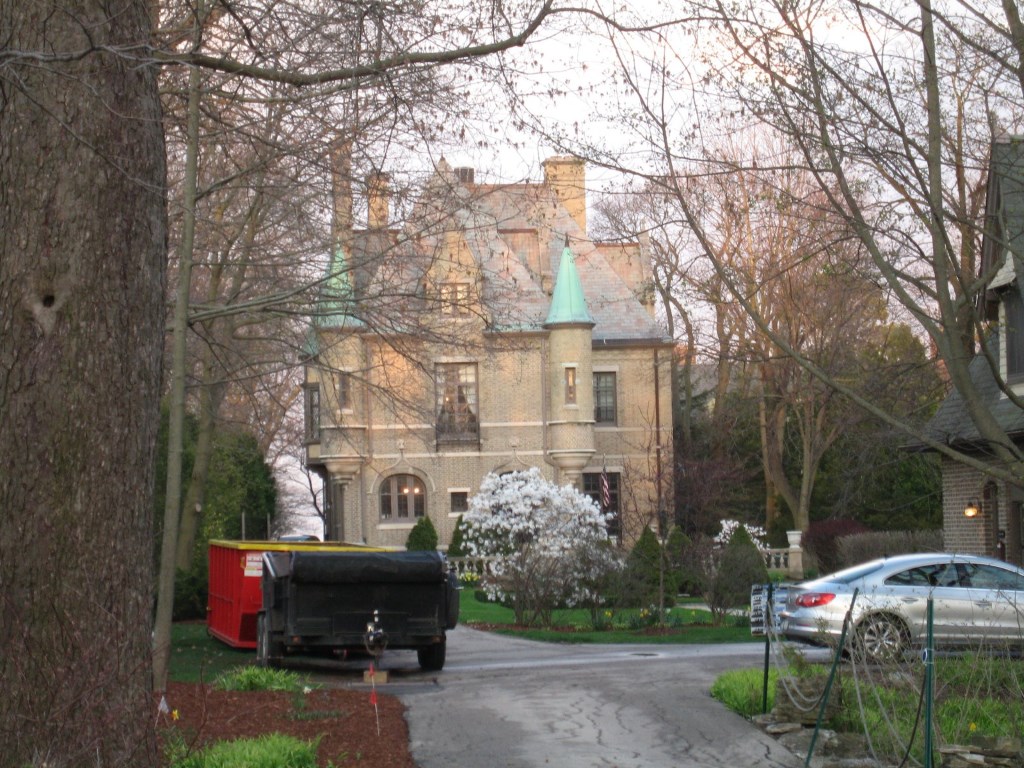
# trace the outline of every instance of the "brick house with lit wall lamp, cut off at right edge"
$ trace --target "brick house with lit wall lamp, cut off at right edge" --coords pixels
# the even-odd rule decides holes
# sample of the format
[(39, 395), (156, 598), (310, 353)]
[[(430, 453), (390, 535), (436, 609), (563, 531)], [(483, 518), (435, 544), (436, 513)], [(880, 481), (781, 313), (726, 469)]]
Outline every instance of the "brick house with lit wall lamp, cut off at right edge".
[[(1024, 397), (1024, 137), (998, 139), (992, 145), (985, 217), (981, 273), (995, 272), (981, 302), (982, 316), (993, 328), (987, 346), (998, 365), (998, 378)], [(989, 413), (1024, 446), (1024, 410), (1002, 391), (988, 359), (976, 356), (970, 372)], [(927, 431), (959, 451), (981, 458), (990, 455), (955, 390)], [(1022, 505), (1021, 487), (942, 457), (943, 531), (950, 552), (994, 555), (1021, 564)]]

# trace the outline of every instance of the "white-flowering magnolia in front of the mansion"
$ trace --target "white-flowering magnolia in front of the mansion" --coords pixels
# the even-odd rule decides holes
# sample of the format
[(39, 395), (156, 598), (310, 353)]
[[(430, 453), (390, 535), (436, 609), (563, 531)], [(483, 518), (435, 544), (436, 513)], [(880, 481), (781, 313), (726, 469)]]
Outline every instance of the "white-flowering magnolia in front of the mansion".
[(536, 467), (488, 474), (463, 521), (466, 552), (492, 560), (482, 588), (511, 602), (517, 624), (550, 626), (551, 611), (562, 604), (596, 610), (602, 585), (621, 564), (608, 516)]

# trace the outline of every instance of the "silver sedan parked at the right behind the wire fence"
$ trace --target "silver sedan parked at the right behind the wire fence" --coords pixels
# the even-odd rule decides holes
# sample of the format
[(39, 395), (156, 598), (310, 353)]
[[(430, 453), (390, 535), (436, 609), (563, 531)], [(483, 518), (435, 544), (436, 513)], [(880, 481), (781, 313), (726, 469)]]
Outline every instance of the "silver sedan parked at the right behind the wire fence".
[(847, 648), (882, 660), (924, 644), (929, 597), (936, 646), (1024, 648), (1024, 570), (974, 555), (898, 555), (792, 586), (780, 626), (835, 646), (849, 613)]

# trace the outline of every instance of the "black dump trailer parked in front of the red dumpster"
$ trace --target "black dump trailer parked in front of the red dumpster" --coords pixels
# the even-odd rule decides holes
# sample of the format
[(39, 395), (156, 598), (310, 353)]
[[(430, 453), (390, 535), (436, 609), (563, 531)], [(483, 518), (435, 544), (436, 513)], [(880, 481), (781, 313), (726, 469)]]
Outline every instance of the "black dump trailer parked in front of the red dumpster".
[(457, 584), (439, 552), (266, 552), (257, 663), (415, 648), (421, 668), (440, 670)]

